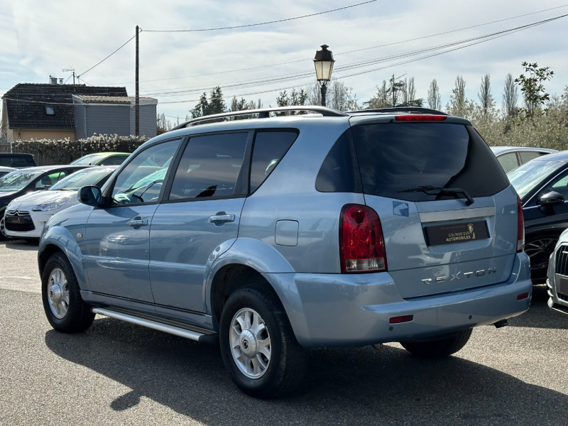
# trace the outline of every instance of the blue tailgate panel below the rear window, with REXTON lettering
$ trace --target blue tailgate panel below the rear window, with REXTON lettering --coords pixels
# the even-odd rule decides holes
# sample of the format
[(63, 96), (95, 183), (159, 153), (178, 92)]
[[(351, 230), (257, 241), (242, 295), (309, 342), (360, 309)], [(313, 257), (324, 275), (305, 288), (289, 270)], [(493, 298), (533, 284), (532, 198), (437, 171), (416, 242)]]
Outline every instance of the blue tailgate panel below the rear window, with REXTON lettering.
[[(516, 194), (475, 200), (406, 202), (366, 196), (381, 214), (388, 271), (402, 297), (506, 281), (516, 249)], [(388, 209), (391, 214), (386, 213)], [(496, 214), (500, 212), (500, 214)]]

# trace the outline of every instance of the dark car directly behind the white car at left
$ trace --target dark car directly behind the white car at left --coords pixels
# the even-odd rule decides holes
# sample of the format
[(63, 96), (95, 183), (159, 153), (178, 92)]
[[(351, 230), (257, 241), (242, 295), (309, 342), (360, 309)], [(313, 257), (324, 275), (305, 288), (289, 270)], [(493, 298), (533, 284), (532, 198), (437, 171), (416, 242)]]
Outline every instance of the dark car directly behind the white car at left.
[(0, 178), (0, 240), (4, 234), (4, 212), (14, 198), (38, 190), (48, 190), (70, 173), (89, 165), (41, 165), (16, 170)]

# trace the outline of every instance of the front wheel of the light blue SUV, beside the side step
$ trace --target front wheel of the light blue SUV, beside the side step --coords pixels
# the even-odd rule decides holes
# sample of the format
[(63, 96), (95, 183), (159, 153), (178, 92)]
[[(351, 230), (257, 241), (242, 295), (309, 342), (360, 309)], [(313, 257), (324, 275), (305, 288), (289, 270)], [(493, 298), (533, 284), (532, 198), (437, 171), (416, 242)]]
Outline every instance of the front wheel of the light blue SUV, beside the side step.
[(94, 313), (83, 302), (75, 272), (62, 253), (53, 254), (45, 263), (41, 297), (45, 316), (59, 332), (77, 333), (91, 326)]

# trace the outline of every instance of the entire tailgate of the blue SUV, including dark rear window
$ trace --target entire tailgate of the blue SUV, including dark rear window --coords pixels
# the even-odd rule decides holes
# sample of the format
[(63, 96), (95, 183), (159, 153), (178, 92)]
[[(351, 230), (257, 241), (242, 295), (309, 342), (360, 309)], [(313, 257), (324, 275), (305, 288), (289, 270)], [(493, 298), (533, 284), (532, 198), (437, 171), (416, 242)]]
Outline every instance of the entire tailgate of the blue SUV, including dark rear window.
[(469, 121), (410, 118), (351, 128), (365, 202), (381, 220), (388, 272), (400, 295), (506, 281), (518, 208), (501, 165)]

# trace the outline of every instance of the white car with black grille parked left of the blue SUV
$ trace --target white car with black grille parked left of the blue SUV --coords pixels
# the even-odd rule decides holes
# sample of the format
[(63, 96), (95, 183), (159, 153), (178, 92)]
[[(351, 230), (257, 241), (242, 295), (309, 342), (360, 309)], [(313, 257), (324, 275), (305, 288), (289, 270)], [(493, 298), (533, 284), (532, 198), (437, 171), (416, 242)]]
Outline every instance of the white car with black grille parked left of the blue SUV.
[(82, 169), (60, 180), (49, 190), (31, 192), (12, 200), (4, 215), (4, 233), (12, 238), (38, 239), (46, 220), (79, 202), (77, 191), (81, 187), (100, 187), (116, 167)]

